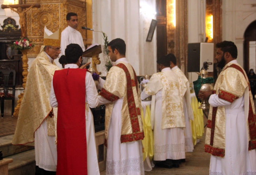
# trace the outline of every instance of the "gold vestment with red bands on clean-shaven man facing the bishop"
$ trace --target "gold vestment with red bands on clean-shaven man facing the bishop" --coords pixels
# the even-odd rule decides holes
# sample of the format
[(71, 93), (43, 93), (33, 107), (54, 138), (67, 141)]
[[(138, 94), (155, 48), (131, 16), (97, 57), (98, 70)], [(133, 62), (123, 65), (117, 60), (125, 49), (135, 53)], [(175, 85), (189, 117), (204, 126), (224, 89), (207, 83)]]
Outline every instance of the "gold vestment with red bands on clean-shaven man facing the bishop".
[(142, 140), (144, 133), (140, 116), (140, 91), (136, 73), (129, 63), (119, 62), (109, 70), (100, 95), (111, 101), (106, 104), (105, 110), (105, 146), (107, 146), (113, 102), (120, 98), (123, 98), (120, 116), (121, 143)]

